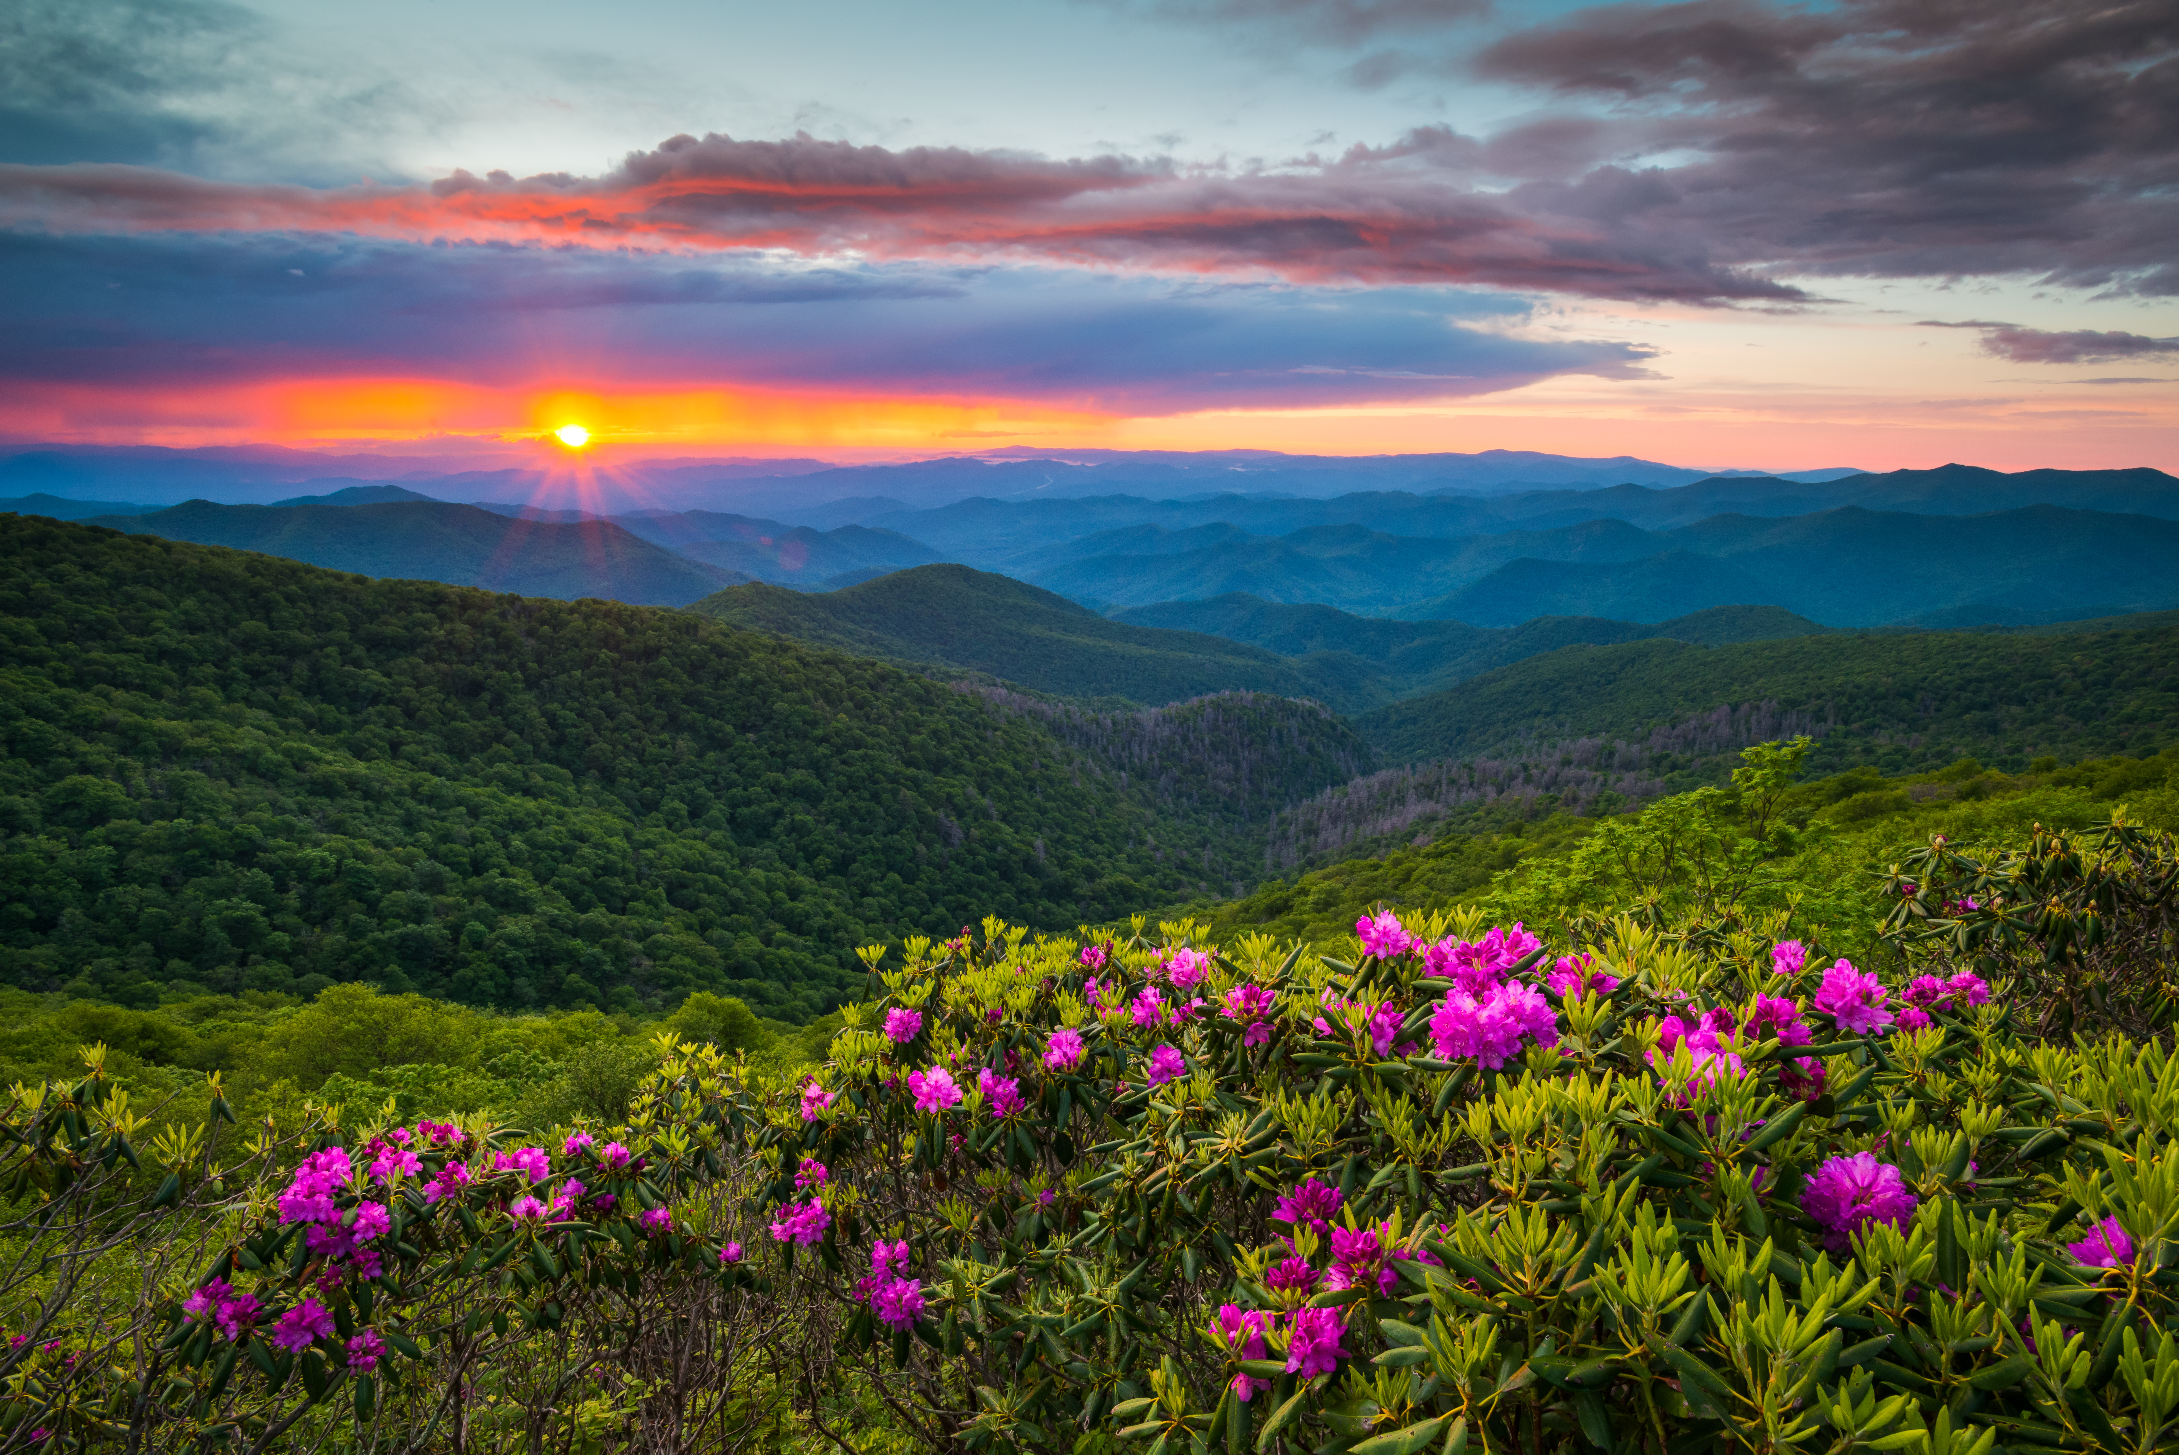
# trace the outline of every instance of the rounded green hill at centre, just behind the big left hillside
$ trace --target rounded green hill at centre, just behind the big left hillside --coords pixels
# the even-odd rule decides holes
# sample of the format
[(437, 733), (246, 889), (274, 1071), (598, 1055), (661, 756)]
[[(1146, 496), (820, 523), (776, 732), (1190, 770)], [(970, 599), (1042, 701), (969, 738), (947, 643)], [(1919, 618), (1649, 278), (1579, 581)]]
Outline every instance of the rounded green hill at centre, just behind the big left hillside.
[(828, 595), (734, 586), (689, 610), (841, 651), (952, 667), (1063, 697), (1164, 704), (1255, 690), (1353, 708), (1390, 695), (1360, 664), (1307, 671), (1220, 636), (1105, 621), (1066, 597), (967, 566), (917, 566)]

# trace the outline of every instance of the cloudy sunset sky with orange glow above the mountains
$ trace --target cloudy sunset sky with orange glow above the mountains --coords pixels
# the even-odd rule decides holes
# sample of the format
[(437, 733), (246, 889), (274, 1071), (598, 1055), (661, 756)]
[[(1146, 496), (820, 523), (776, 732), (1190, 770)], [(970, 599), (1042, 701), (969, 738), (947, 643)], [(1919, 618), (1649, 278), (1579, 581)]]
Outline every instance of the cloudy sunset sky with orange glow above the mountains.
[(15, 0), (0, 436), (2179, 470), (2179, 0)]

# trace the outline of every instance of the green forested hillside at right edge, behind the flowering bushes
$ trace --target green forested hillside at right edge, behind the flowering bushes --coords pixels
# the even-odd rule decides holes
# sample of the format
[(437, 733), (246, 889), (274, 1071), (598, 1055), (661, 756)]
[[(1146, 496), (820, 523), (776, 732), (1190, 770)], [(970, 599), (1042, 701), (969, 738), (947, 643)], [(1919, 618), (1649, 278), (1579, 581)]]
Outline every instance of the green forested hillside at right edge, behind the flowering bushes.
[(1822, 771), (2153, 751), (2179, 741), (2179, 627), (1567, 647), (1358, 725), (1392, 762), (1519, 758), (1571, 738), (1639, 743), (1745, 704), (1809, 714)]

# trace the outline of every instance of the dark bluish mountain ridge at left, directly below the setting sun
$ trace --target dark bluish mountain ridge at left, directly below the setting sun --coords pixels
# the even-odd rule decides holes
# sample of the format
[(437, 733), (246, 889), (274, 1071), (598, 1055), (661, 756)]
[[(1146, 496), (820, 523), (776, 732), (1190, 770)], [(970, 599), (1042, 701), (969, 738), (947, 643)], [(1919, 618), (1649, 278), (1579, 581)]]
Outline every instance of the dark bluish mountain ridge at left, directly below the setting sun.
[(475, 505), (214, 505), (190, 501), (96, 525), (264, 551), (333, 571), (514, 590), (529, 597), (604, 597), (682, 606), (747, 577), (638, 540), (619, 525), (521, 521)]

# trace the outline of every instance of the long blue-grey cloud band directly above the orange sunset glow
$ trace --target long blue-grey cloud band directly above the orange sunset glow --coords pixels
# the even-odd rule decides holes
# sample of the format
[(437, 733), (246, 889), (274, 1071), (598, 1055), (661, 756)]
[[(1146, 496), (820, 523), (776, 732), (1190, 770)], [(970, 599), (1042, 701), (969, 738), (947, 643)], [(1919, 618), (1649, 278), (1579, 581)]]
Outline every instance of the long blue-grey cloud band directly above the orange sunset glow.
[(0, 235), (0, 379), (852, 390), (1105, 414), (1473, 396), (1639, 377), (1506, 296), (1048, 268), (782, 266), (353, 237)]

